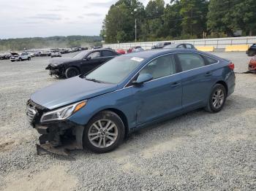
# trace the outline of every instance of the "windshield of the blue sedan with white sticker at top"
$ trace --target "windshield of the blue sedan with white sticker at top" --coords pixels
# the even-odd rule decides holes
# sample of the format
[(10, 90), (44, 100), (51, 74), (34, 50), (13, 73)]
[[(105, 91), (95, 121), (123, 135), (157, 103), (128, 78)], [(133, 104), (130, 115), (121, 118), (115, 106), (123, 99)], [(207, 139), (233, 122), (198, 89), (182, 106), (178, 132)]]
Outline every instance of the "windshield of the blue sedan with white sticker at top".
[(118, 84), (123, 81), (144, 59), (132, 56), (113, 58), (86, 75), (86, 79)]

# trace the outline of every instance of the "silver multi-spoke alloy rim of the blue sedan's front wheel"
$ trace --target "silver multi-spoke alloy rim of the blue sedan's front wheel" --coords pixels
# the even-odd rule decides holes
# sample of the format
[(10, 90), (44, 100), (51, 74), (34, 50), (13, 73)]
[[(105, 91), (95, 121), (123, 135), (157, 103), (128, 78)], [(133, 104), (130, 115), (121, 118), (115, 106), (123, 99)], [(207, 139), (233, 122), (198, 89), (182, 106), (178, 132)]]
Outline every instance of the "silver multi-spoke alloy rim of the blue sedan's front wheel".
[(118, 137), (118, 128), (111, 120), (97, 120), (89, 128), (88, 136), (94, 147), (110, 147)]

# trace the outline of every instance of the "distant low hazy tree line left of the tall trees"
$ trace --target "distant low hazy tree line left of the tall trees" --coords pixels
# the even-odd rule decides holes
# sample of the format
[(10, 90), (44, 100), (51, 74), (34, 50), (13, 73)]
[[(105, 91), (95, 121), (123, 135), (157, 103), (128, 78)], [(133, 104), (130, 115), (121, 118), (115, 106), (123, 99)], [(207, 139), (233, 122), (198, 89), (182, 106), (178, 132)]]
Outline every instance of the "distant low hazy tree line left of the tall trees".
[(0, 51), (49, 48), (87, 47), (101, 44), (100, 36), (50, 36), (20, 39), (0, 39)]

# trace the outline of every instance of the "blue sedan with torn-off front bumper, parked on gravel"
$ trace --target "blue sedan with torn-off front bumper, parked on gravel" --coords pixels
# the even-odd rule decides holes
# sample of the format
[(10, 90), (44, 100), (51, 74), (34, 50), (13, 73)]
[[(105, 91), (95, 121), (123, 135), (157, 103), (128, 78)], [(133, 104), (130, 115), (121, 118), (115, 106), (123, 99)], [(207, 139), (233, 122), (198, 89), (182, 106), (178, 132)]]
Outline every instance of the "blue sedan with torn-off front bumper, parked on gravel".
[(121, 55), (89, 74), (38, 90), (26, 114), (38, 148), (75, 145), (110, 152), (133, 130), (204, 108), (222, 110), (234, 92), (234, 64), (197, 50), (149, 50)]

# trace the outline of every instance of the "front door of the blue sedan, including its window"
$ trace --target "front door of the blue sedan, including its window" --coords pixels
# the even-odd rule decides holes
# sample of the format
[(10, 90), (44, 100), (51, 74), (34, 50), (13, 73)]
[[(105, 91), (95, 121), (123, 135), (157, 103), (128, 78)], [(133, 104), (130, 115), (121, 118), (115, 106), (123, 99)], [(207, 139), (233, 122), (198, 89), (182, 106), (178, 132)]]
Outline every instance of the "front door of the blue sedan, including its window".
[(181, 110), (181, 74), (177, 72), (172, 54), (154, 59), (139, 72), (151, 74), (153, 79), (132, 87), (137, 103), (138, 126)]

